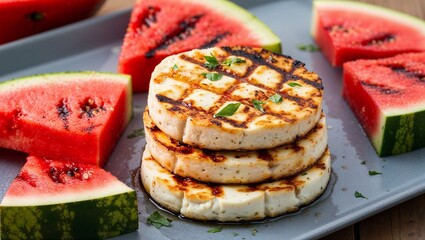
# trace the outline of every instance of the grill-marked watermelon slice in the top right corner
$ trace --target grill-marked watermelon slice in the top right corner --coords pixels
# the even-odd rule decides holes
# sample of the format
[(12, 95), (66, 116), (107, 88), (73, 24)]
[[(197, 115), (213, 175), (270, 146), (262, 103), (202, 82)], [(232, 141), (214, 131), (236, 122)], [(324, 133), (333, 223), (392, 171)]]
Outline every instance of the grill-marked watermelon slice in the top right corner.
[(383, 7), (315, 0), (312, 21), (313, 38), (334, 66), (425, 51), (425, 22)]

